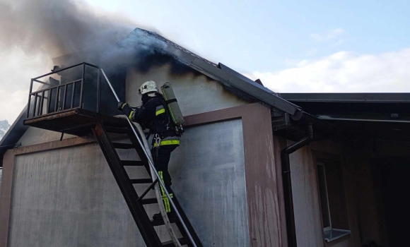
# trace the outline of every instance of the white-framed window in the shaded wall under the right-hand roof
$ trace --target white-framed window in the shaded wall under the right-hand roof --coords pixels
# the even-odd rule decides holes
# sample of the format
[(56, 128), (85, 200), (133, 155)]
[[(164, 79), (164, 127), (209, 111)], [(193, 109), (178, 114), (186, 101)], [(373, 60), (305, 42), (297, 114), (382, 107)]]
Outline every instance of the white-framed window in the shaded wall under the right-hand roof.
[(324, 239), (327, 242), (351, 233), (348, 231), (341, 166), (336, 162), (317, 162), (317, 186), (322, 209)]

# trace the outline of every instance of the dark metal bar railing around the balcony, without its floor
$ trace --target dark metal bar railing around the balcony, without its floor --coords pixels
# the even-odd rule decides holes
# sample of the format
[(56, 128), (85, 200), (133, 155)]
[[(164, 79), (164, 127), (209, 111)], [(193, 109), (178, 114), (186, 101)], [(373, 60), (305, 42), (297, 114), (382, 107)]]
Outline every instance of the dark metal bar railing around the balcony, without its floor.
[[(76, 80), (71, 80), (67, 83), (61, 83), (59, 85), (52, 86), (51, 79), (50, 83), (45, 83), (40, 78), (45, 78), (46, 76), (51, 76), (53, 74), (59, 74), (63, 71), (69, 72), (69, 69), (82, 66), (81, 78)], [(85, 92), (84, 85), (86, 82), (86, 66), (97, 68), (97, 82), (93, 82), (97, 86), (96, 92), (96, 109), (95, 112), (100, 113), (100, 97), (101, 97), (101, 70), (98, 66), (93, 64), (88, 64), (83, 62), (81, 64), (76, 64), (66, 68), (61, 68), (57, 71), (52, 71), (42, 76), (31, 79), (30, 82), (30, 94), (28, 95), (28, 111), (27, 119), (45, 116), (47, 114), (55, 114), (64, 110), (84, 108), (83, 97), (85, 93), (90, 94), (91, 92)], [(75, 74), (75, 73), (74, 73)], [(57, 80), (55, 80), (57, 81)], [(40, 90), (33, 92), (33, 83), (41, 83), (43, 86)], [(48, 88), (47, 88), (48, 86)], [(79, 87), (79, 88), (78, 88)], [(94, 90), (90, 90), (94, 91)], [(94, 91), (95, 92), (95, 91)], [(33, 98), (33, 99), (32, 99)], [(46, 103), (45, 103), (46, 102)], [(33, 103), (33, 104), (32, 104)]]

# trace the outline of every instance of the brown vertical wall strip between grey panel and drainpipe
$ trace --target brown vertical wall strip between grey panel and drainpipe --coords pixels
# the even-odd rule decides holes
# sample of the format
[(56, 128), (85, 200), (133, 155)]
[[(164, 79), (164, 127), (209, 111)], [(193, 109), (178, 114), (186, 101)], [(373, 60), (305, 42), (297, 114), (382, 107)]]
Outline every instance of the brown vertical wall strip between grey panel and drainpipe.
[(242, 125), (251, 246), (283, 246), (271, 111), (247, 106)]

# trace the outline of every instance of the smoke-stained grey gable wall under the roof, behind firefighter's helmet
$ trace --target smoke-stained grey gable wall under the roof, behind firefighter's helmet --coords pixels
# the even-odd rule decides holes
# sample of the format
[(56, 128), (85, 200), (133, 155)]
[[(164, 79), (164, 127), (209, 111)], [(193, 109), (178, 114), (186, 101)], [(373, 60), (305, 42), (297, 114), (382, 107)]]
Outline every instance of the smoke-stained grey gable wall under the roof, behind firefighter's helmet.
[(154, 80), (158, 87), (166, 82), (171, 83), (183, 116), (211, 112), (218, 109), (236, 107), (247, 104), (245, 100), (224, 90), (221, 83), (206, 76), (194, 76), (192, 73), (175, 75), (171, 73), (171, 66), (153, 67), (146, 73), (135, 68), (127, 71), (126, 100), (131, 106), (141, 105), (138, 89), (147, 80)]

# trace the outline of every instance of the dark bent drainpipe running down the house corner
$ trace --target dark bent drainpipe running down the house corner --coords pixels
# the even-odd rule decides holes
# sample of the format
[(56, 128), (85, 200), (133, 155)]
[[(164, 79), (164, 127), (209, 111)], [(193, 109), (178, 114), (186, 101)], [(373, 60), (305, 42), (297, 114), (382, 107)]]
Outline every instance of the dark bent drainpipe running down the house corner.
[(289, 155), (313, 141), (312, 123), (307, 126), (306, 136), (281, 151), (283, 197), (285, 199), (286, 230), (288, 232), (288, 247), (296, 247), (295, 213), (293, 211), (293, 195), (291, 180), (291, 164)]

